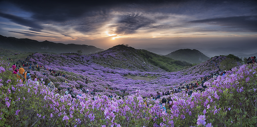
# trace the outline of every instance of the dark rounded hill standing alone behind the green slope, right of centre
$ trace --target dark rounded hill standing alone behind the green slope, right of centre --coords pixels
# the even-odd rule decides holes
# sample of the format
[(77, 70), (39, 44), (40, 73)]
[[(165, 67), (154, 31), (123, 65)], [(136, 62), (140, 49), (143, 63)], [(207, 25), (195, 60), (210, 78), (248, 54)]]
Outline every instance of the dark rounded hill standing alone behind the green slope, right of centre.
[(170, 54), (165, 56), (172, 58), (174, 60), (185, 61), (191, 64), (199, 64), (210, 59), (209, 57), (205, 56), (202, 52), (196, 49), (180, 49), (171, 52)]

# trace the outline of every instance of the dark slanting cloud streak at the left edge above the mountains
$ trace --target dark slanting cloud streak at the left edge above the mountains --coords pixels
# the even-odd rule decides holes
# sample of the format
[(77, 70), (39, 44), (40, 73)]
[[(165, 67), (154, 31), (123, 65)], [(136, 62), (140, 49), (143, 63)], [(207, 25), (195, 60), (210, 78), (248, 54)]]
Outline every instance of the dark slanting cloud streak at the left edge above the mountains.
[(39, 24), (36, 24), (34, 21), (27, 20), (27, 19), (24, 19), (24, 18), (19, 17), (19, 16), (15, 16), (15, 15), (12, 15), (12, 14), (5, 14), (5, 13), (2, 13), (2, 12), (0, 12), (0, 16), (3, 17), (3, 18), (7, 18), (11, 22), (14, 22), (16, 24), (31, 27), (33, 31), (35, 31), (35, 30), (41, 31), (43, 29), (43, 27), (41, 27)]

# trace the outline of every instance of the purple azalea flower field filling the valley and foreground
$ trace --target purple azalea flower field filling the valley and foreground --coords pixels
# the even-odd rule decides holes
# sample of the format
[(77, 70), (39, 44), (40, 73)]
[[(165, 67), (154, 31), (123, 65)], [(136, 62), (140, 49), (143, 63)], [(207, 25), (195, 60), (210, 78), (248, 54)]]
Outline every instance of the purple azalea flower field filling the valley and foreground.
[[(209, 79), (203, 92), (196, 90), (202, 88), (198, 86), (191, 96), (182, 91), (152, 100), (150, 94), (172, 91), (180, 83), (194, 83), (217, 71), (211, 60), (219, 64), (225, 57), (167, 72), (133, 56), (128, 53), (125, 58), (104, 51), (84, 56), (36, 53), (29, 61), (41, 65), (41, 69), (24, 69), (36, 73), (39, 84), (31, 79), (22, 82), (12, 74), (11, 65), (0, 61), (0, 126), (257, 126), (256, 64), (238, 65), (225, 76)], [(47, 69), (67, 79), (53, 76)], [(132, 80), (124, 75), (153, 79)], [(50, 81), (61, 88), (60, 95), (47, 88)], [(71, 86), (76, 99), (64, 94)], [(83, 93), (81, 88), (97, 92)], [(162, 98), (168, 97), (172, 101), (160, 106)]]

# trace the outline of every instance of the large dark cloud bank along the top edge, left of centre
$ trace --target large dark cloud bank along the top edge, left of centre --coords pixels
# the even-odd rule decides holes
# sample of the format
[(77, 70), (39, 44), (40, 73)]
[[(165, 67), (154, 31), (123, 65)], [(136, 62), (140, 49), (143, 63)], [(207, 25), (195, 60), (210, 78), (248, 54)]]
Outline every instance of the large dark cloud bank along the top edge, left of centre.
[(79, 18), (90, 11), (101, 10), (101, 9), (111, 9), (112, 7), (117, 7), (119, 5), (127, 4), (146, 4), (154, 3), (160, 4), (164, 3), (164, 0), (125, 0), (125, 1), (20, 1), (20, 0), (9, 0), (9, 2), (17, 5), (23, 10), (28, 12), (33, 12), (31, 18), (35, 18), (41, 21), (57, 21), (65, 22), (70, 19)]

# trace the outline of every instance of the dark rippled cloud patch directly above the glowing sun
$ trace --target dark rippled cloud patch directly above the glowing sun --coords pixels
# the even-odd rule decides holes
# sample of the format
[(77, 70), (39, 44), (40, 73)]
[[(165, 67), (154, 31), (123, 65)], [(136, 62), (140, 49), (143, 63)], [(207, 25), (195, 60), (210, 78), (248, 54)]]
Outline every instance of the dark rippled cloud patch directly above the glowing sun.
[(142, 14), (128, 14), (120, 17), (120, 20), (117, 22), (117, 34), (132, 34), (136, 33), (136, 30), (142, 27), (150, 27), (154, 20), (144, 17)]

